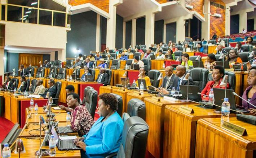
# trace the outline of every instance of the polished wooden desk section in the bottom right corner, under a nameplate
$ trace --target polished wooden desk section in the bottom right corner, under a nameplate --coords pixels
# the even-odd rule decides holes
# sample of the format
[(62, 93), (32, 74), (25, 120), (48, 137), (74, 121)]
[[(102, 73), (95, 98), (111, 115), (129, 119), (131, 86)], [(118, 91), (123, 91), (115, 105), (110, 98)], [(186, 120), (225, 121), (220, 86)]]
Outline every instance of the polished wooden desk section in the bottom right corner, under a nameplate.
[(256, 150), (256, 126), (230, 118), (230, 123), (244, 127), (248, 136), (238, 136), (220, 127), (220, 118), (200, 119), (197, 122), (195, 157), (253, 158)]

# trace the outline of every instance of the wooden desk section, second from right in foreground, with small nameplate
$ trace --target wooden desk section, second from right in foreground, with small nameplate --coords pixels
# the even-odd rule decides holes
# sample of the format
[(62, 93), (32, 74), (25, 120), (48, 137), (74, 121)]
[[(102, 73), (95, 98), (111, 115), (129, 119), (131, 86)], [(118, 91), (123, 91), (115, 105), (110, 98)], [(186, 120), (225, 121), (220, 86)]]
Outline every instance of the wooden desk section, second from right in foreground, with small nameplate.
[[(195, 136), (197, 121), (201, 118), (221, 117), (215, 109), (186, 105), (194, 113), (186, 113), (181, 105), (165, 106), (163, 157), (195, 157)], [(231, 114), (230, 117), (234, 117)]]

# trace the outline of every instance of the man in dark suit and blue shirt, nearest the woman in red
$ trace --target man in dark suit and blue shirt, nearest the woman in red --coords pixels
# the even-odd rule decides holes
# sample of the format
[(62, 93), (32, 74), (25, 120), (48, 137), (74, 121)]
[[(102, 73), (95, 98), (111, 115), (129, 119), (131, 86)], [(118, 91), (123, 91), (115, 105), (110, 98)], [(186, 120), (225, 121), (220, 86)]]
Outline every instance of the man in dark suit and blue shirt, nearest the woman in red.
[[(168, 89), (162, 88), (163, 94), (181, 94), (180, 85), (187, 85), (186, 79), (186, 67), (184, 65), (178, 65), (176, 67), (176, 74), (175, 78), (173, 79), (172, 84), (169, 86)], [(194, 85), (193, 79), (189, 76), (189, 85)], [(176, 92), (172, 92), (172, 88), (174, 87)]]

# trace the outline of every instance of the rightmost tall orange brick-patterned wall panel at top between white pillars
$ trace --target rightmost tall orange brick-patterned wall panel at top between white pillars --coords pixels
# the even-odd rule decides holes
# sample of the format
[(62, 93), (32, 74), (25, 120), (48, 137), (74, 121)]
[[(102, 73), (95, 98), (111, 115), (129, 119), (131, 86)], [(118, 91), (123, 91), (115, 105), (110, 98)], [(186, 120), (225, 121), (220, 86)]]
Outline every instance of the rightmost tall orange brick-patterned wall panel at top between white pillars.
[[(221, 0), (211, 1), (225, 6), (225, 3), (223, 3)], [(213, 15), (214, 13), (221, 14), (221, 18), (211, 16), (210, 37), (212, 37), (215, 32), (217, 36), (225, 36), (225, 9), (217, 8), (216, 6), (211, 5), (211, 14)]]

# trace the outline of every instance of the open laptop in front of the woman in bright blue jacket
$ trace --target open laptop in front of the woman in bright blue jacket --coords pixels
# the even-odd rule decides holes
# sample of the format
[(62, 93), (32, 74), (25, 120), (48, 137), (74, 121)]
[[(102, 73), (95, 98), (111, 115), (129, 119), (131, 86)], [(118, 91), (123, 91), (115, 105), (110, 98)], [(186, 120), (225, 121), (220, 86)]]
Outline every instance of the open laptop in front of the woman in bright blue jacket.
[(77, 147), (73, 139), (61, 140), (54, 128), (51, 129), (52, 135), (56, 140), (56, 146), (59, 150), (80, 150), (80, 147)]

